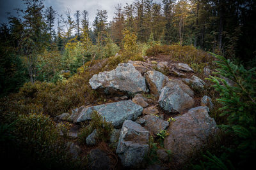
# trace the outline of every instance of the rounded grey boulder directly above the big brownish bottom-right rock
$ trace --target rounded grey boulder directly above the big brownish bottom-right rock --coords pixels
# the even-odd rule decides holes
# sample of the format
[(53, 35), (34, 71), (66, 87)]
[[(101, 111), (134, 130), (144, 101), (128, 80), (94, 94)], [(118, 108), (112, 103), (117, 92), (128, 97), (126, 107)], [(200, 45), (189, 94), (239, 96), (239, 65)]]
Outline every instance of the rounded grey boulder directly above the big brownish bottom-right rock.
[(195, 104), (193, 91), (178, 80), (170, 80), (161, 90), (158, 102), (161, 108), (169, 112), (182, 112)]

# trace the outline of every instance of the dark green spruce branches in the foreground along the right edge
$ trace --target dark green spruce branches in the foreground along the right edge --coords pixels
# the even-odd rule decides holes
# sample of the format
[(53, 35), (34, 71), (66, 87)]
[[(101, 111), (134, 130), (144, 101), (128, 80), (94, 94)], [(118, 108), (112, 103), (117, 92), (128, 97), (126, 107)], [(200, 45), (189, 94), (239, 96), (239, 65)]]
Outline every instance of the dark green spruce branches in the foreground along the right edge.
[(201, 162), (196, 167), (204, 169), (229, 169), (236, 167), (250, 167), (253, 164), (252, 157), (256, 150), (256, 122), (255, 122), (255, 108), (256, 108), (256, 93), (255, 93), (255, 70), (256, 67), (246, 70), (242, 65), (236, 65), (229, 59), (225, 59), (220, 55), (214, 55), (218, 59), (217, 72), (219, 76), (228, 78), (234, 81), (234, 85), (228, 85), (224, 78), (217, 76), (210, 76), (208, 80), (214, 82), (212, 85), (218, 92), (220, 92), (220, 99), (217, 101), (222, 105), (222, 117), (227, 118), (225, 124), (220, 125), (223, 131), (233, 135), (232, 147), (229, 146), (221, 155), (213, 155), (207, 153), (205, 162)]

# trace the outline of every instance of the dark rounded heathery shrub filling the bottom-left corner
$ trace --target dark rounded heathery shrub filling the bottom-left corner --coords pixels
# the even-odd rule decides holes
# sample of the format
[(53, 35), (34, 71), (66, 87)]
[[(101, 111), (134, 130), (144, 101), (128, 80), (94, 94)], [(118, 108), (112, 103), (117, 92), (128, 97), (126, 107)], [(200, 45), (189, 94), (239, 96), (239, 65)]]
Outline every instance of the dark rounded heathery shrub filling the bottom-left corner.
[(75, 167), (76, 160), (72, 160), (59, 129), (49, 116), (35, 113), (19, 115), (10, 125), (12, 131), (9, 133), (13, 137), (1, 141), (1, 160), (15, 160), (15, 165), (11, 166), (19, 166), (20, 169)]

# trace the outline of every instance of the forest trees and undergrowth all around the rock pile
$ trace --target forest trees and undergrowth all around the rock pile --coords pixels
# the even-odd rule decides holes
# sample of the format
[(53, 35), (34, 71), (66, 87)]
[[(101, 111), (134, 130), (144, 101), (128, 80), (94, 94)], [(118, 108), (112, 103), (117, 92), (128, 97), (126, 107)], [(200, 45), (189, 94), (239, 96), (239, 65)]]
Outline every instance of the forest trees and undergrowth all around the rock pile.
[[(108, 11), (97, 10), (93, 23), (86, 10), (71, 11), (67, 6), (60, 13), (45, 6), (44, 0), (23, 1), (26, 9), (16, 9), (17, 16), (9, 15), (8, 23), (0, 27), (1, 159), (17, 160), (21, 169), (84, 169), (90, 163), (84, 139), (94, 129), (101, 135), (99, 147), (115, 155), (115, 149), (106, 145), (113, 127), (95, 113), (90, 125), (79, 124), (82, 130), (76, 142), (83, 146), (83, 153), (71, 159), (67, 143), (73, 125), (68, 121), (56, 124), (56, 116), (86, 103), (110, 102), (108, 95), (90, 87), (93, 74), (111, 71), (129, 60), (145, 62), (155, 57), (187, 63), (196, 76), (206, 78), (207, 88), (193, 89), (195, 98), (212, 98), (215, 108), (210, 116), (221, 129), (218, 139), (210, 139), (182, 168), (253, 165), (256, 1), (134, 0), (116, 3), (110, 22)], [(205, 67), (215, 74), (205, 75)], [(143, 96), (157, 100), (147, 92)], [(157, 136), (155, 141), (150, 138), (151, 159), (165, 137)], [(156, 164), (151, 159), (146, 164)], [(117, 161), (114, 168), (122, 165)]]

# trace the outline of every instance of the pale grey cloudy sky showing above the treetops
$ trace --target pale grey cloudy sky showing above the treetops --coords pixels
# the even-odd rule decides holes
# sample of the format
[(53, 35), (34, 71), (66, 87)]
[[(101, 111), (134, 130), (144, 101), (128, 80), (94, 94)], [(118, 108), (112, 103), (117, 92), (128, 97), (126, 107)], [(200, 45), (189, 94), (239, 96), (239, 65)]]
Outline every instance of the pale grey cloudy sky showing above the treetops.
[[(113, 20), (116, 4), (121, 3), (122, 6), (125, 6), (126, 3), (131, 4), (133, 1), (134, 0), (45, 0), (44, 4), (45, 6), (52, 6), (52, 8), (60, 14), (64, 14), (67, 8), (69, 8), (72, 12), (72, 16), (76, 10), (87, 10), (90, 24), (92, 24), (97, 10), (107, 10), (108, 20)], [(7, 22), (7, 12), (11, 12), (12, 15), (17, 17), (17, 14), (13, 10), (15, 8), (24, 9), (24, 1), (0, 0), (0, 22)]]

